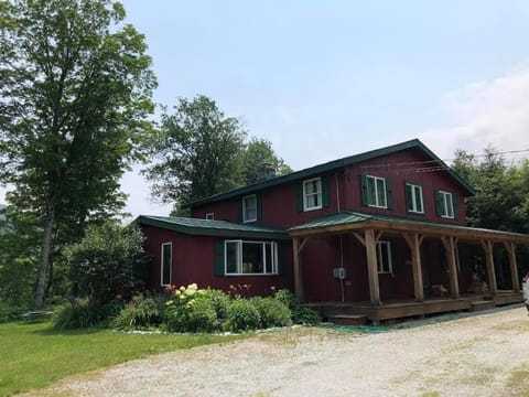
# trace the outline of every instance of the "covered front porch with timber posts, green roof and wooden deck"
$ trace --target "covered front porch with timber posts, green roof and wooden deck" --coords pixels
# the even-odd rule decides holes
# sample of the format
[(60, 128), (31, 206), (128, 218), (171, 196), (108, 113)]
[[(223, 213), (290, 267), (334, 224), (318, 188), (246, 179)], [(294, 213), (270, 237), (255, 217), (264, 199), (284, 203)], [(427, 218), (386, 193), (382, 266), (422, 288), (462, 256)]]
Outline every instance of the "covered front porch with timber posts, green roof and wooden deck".
[[(353, 319), (365, 316), (370, 321), (378, 322), (450, 311), (476, 311), (522, 301), (516, 249), (518, 246), (529, 246), (529, 236), (527, 235), (350, 212), (333, 214), (296, 226), (290, 229), (290, 234), (293, 242), (295, 293), (301, 301), (305, 301), (320, 310), (325, 318), (350, 316)], [(343, 237), (345, 237), (356, 240), (357, 245), (359, 244), (359, 247), (363, 247), (365, 262), (360, 270), (365, 273), (363, 279), (367, 283), (367, 299), (347, 298), (344, 293), (342, 293), (342, 299), (333, 301), (313, 301), (311, 297), (305, 297), (304, 290), (309, 287), (305, 283), (310, 277), (303, 272), (313, 271), (314, 266), (311, 265), (312, 268), (305, 268), (302, 253), (309, 242), (333, 238), (333, 236), (339, 237), (341, 245)], [(386, 276), (380, 273), (378, 264), (380, 253), (377, 253), (377, 249), (379, 249), (377, 243), (386, 238), (402, 242), (401, 245), (406, 247), (401, 249), (403, 254), (400, 255), (399, 260), (402, 262), (402, 268), (406, 264), (406, 269), (402, 270), (408, 268), (409, 270), (407, 270), (408, 272), (401, 271), (400, 278), (392, 275), (392, 282), (403, 285), (399, 287), (403, 290), (408, 288), (409, 293), (408, 296), (397, 297), (398, 299), (393, 297), (391, 297), (393, 299), (385, 298), (389, 297), (385, 290), (388, 288), (388, 283), (385, 281)], [(439, 269), (441, 259), (435, 254), (438, 251), (432, 251), (429, 248), (424, 254), (425, 246), (433, 245), (443, 247), (445, 261), (443, 265), (445, 270), (443, 269), (443, 271)], [(468, 279), (468, 275), (473, 275), (473, 267), (466, 264), (467, 267), (462, 271), (462, 262), (469, 259), (468, 255), (466, 259), (460, 259), (457, 249), (460, 246), (473, 247), (474, 250), (479, 251), (484, 259), (484, 287), (473, 290), (472, 293), (468, 293), (471, 280), (464, 278)], [(495, 247), (501, 247), (508, 258), (508, 278), (510, 279), (508, 289), (503, 286), (504, 289), (498, 290)], [(341, 255), (343, 255), (342, 247), (339, 249)], [(311, 258), (305, 258), (306, 262), (310, 260)], [(445, 282), (430, 282), (430, 277), (424, 273), (428, 268), (423, 264), (428, 260), (433, 260), (434, 270), (439, 270), (438, 273), (443, 275), (446, 279)], [(338, 265), (337, 268), (339, 269), (339, 267)], [(341, 281), (343, 291), (344, 280)], [(460, 290), (461, 286), (464, 286), (463, 290)], [(358, 289), (358, 286), (355, 288)], [(439, 293), (432, 294), (435, 289)]]

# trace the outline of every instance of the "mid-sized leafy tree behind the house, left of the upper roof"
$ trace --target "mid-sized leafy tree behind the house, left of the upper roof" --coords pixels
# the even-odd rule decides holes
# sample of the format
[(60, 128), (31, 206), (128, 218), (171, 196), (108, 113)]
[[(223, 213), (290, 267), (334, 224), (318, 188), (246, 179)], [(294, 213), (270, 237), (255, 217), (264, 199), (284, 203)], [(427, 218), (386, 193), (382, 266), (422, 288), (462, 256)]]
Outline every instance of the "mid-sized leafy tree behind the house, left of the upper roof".
[(213, 99), (180, 98), (174, 114), (162, 115), (154, 163), (145, 171), (153, 196), (177, 210), (237, 186), (245, 138), (240, 121), (227, 117)]

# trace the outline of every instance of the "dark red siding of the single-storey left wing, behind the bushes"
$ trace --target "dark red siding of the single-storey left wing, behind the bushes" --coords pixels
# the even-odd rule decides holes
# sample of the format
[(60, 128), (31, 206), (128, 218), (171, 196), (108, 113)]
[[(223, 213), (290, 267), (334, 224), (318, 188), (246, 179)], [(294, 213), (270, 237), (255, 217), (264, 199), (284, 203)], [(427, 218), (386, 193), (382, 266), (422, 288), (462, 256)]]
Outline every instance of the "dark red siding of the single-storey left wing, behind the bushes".
[(266, 294), (271, 287), (292, 289), (292, 250), (285, 253), (287, 272), (284, 276), (215, 276), (215, 243), (222, 237), (192, 236), (158, 227), (143, 226), (147, 236), (147, 250), (152, 256), (150, 288), (160, 287), (160, 255), (163, 243), (172, 243), (173, 286), (196, 282), (199, 288), (212, 287), (229, 290), (229, 286), (250, 285), (249, 294)]

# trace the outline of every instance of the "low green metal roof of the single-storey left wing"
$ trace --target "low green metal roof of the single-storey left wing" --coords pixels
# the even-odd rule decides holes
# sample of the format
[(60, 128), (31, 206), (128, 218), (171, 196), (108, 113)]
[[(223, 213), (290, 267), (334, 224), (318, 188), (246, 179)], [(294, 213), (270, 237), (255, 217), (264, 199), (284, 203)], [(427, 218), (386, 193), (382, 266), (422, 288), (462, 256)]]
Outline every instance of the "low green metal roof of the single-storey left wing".
[(249, 224), (235, 224), (225, 221), (209, 221), (174, 216), (140, 215), (136, 224), (154, 226), (188, 235), (240, 237), (240, 238), (274, 238), (289, 239), (289, 233), (279, 227), (268, 227)]

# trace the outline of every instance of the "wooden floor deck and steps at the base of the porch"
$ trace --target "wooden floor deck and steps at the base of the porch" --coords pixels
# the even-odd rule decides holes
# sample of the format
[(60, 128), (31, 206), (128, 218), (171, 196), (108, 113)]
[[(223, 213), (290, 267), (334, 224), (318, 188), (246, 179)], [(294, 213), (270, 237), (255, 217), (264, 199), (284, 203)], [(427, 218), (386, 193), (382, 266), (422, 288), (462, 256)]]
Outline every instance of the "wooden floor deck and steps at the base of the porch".
[(324, 319), (333, 319), (335, 315), (365, 315), (369, 321), (378, 323), (382, 320), (434, 313), (485, 310), (522, 301), (521, 292), (498, 291), (495, 296), (473, 293), (457, 299), (427, 298), (423, 302), (392, 300), (384, 301), (380, 305), (371, 302), (316, 302), (307, 305), (317, 310)]

